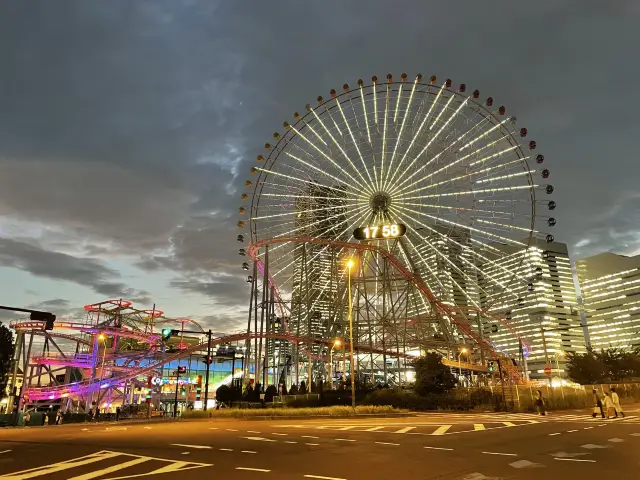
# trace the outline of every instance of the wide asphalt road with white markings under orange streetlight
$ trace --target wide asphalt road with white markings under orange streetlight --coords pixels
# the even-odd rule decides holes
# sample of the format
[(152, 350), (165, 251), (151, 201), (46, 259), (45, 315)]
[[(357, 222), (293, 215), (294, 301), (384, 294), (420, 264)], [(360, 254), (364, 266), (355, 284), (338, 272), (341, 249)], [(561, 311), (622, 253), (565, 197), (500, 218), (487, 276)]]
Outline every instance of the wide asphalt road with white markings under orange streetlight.
[(0, 478), (601, 480), (639, 451), (640, 412), (62, 425), (0, 430)]

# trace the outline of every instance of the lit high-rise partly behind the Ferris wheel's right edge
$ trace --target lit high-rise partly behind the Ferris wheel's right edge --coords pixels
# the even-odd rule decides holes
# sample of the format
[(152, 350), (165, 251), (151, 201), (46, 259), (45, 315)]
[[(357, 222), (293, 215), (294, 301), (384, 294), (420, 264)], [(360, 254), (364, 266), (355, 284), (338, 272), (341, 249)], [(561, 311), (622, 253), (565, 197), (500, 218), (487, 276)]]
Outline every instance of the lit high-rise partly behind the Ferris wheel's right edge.
[(483, 334), (507, 356), (520, 361), (526, 356), (532, 379), (545, 378), (547, 365), (552, 376), (565, 376), (566, 352), (585, 350), (567, 246), (534, 240), (529, 248), (498, 248), (505, 255), (483, 266), (480, 284), (499, 281), (508, 287), (498, 298), (482, 291), (480, 298), (483, 308), (511, 328), (488, 319)]

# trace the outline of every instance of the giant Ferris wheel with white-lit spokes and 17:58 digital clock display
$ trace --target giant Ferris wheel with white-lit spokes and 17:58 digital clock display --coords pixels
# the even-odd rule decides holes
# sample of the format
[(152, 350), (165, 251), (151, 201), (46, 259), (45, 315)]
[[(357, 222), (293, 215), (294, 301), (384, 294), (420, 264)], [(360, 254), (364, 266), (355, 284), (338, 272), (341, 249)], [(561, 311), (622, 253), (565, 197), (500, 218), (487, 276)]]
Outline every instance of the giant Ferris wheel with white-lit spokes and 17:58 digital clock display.
[[(245, 183), (238, 240), (277, 242), (268, 275), (292, 317), (296, 308), (322, 316), (344, 300), (339, 260), (353, 253), (331, 242), (375, 243), (449, 305), (504, 313), (533, 289), (536, 266), (523, 266), (519, 252), (554, 241), (554, 189), (536, 142), (491, 97), (435, 76), (374, 76), (318, 97), (283, 127)], [(372, 296), (386, 289), (393, 302), (404, 286), (375, 253), (363, 263), (368, 315), (384, 303)], [(391, 315), (388, 305), (378, 318)], [(430, 311), (428, 302), (408, 305), (393, 312), (405, 326)]]

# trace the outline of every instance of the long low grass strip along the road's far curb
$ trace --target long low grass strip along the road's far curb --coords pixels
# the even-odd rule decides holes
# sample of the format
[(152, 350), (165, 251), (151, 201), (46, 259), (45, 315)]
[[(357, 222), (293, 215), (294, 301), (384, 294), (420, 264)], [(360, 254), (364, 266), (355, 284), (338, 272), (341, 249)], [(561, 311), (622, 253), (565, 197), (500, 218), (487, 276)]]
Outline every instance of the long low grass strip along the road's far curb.
[(383, 406), (335, 406), (319, 408), (223, 408), (220, 410), (192, 410), (184, 412), (182, 418), (251, 418), (251, 417), (347, 417), (355, 415), (384, 415), (389, 413), (402, 413), (391, 405)]

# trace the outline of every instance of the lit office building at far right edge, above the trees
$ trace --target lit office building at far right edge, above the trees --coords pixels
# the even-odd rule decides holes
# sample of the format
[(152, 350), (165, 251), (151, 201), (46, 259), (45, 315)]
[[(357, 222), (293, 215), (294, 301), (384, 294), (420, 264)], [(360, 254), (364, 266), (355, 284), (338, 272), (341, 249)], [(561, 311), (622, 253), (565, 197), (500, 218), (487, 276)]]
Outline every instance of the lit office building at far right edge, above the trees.
[(640, 347), (640, 255), (601, 253), (576, 269), (591, 347)]

